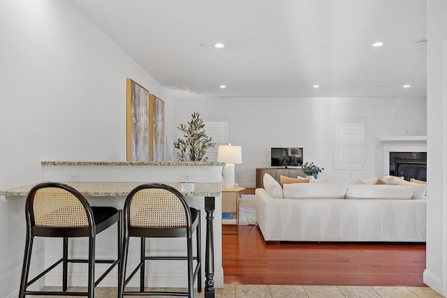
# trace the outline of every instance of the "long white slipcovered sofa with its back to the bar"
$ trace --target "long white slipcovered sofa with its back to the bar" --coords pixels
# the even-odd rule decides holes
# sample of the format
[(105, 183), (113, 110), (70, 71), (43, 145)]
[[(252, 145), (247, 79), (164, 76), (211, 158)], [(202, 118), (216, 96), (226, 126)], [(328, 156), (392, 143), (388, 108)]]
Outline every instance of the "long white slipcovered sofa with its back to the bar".
[(267, 175), (265, 188), (256, 189), (256, 219), (265, 241), (425, 242), (421, 188), (299, 183), (283, 189)]

